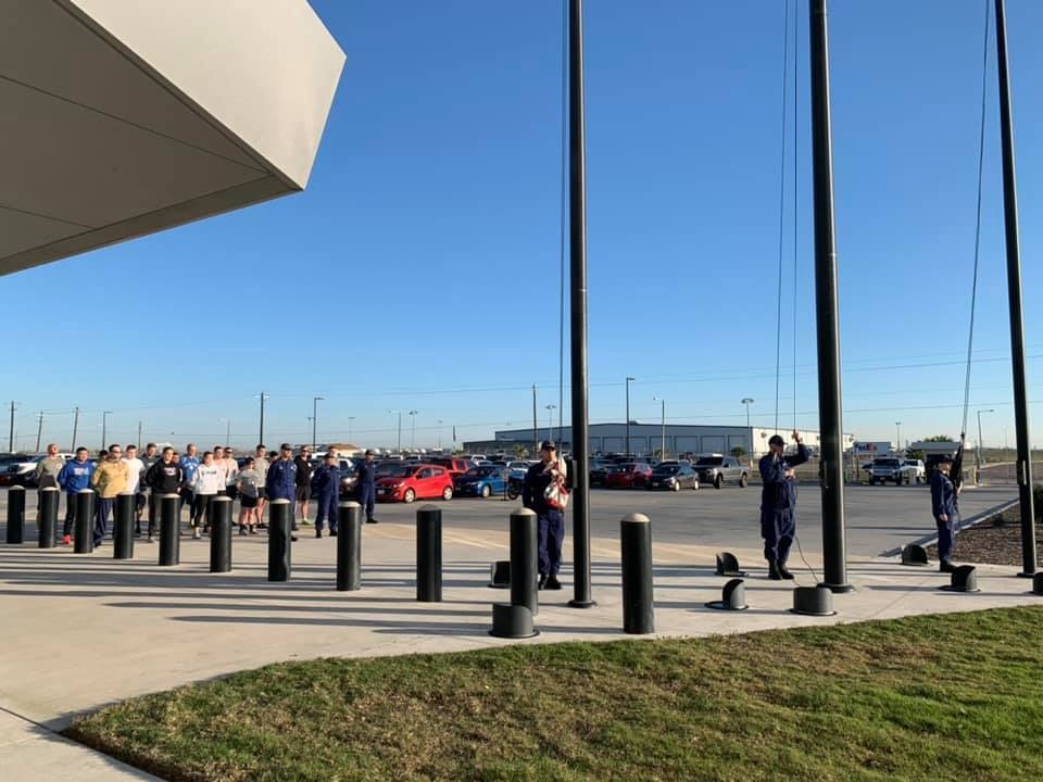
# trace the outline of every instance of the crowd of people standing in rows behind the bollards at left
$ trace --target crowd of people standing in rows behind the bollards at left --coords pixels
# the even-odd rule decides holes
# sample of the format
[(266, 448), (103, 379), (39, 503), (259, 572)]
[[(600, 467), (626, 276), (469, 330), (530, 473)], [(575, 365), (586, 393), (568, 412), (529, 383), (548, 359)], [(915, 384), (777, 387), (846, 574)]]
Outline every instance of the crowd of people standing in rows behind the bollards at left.
[[(135, 534), (141, 535), (142, 518), (148, 517), (146, 541), (154, 542), (158, 526), (159, 499), (164, 494), (180, 497), (178, 515), (189, 508), (189, 528), (199, 539), (210, 528), (211, 502), (218, 496), (239, 500), (239, 534), (256, 534), (263, 529), (264, 508), (268, 501), (286, 500), (294, 505), (292, 530), (310, 525), (309, 505), (315, 495), (315, 537), (322, 538), (326, 525), (329, 534), (337, 534), (337, 503), (340, 499), (341, 470), (335, 449), (329, 449), (323, 464), (313, 468), (312, 450), (301, 447), (297, 455), (289, 443), (278, 452), (269, 452), (261, 444), (254, 455), (237, 459), (230, 446), (215, 445), (212, 451), (199, 453), (189, 443), (184, 454), (166, 446), (159, 451), (149, 443), (140, 456), (136, 445), (110, 445), (90, 459), (86, 447), (78, 447), (74, 458), (65, 461), (56, 444), (47, 446), (47, 455), (36, 469), (36, 484), (40, 489), (53, 487), (66, 493), (65, 522), (62, 542), (72, 543), (76, 524), (76, 495), (85, 489), (96, 493), (93, 544), (102, 545), (109, 533), (109, 519), (120, 494), (135, 496)], [(373, 518), (375, 465), (373, 452), (366, 452), (366, 462), (359, 469), (360, 499), (367, 503), (367, 521)], [(292, 538), (297, 540), (297, 538)]]

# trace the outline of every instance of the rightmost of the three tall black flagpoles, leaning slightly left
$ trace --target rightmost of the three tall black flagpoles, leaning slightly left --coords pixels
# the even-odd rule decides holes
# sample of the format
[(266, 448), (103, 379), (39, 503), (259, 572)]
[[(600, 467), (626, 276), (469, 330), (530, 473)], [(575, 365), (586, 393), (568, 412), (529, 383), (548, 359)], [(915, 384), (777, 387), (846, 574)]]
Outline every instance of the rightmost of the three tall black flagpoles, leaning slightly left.
[(1018, 230), (1018, 184), (1014, 160), (1014, 118), (1007, 63), (1007, 13), (996, 0), (996, 60), (1000, 76), (1000, 127), (1003, 139), (1003, 213), (1007, 245), (1007, 302), (1010, 310), (1010, 355), (1014, 371), (1014, 431), (1018, 447), (1018, 505), (1021, 509), (1021, 572), (1035, 575), (1035, 513), (1032, 497), (1032, 451), (1029, 443), (1029, 389), (1025, 369), (1025, 318), (1021, 313), (1021, 243)]

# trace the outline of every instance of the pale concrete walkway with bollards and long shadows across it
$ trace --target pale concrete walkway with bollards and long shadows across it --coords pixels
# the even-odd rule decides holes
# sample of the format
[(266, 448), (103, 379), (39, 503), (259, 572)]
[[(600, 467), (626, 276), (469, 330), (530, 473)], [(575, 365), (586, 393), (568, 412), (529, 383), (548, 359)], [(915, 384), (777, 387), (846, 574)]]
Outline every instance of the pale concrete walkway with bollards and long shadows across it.
[[(268, 663), (326, 656), (364, 657), (501, 646), (489, 636), (490, 604), (506, 601), (487, 586), (489, 563), (507, 557), (506, 532), (445, 530), (444, 601), (415, 601), (414, 529), (367, 526), (363, 589), (335, 591), (336, 540), (309, 528), (293, 544), (290, 582), (268, 583), (267, 539), (234, 540), (231, 573), (208, 572), (209, 542), (181, 541), (181, 564), (156, 565), (156, 546), (138, 542), (136, 558), (113, 560), (110, 542), (90, 555), (68, 547), (0, 546), (0, 768), (4, 779), (150, 779), (50, 733), (85, 710)], [(577, 610), (570, 572), (566, 589), (540, 593), (541, 634), (522, 643), (616, 640), (621, 632), (619, 544), (593, 541), (598, 606)], [(765, 578), (758, 551), (736, 551), (750, 609), (715, 611), (725, 579), (714, 576), (715, 551), (678, 543), (654, 546), (655, 619), (661, 636), (701, 636), (769, 628), (884, 619), (1043, 603), (1015, 568), (979, 568), (981, 592), (939, 586), (947, 576), (904, 568), (895, 559), (853, 562), (857, 592), (837, 595), (837, 615), (796, 616), (792, 584)], [(566, 562), (570, 552), (566, 545)], [(818, 568), (816, 559), (812, 567)], [(796, 558), (797, 583), (815, 578)], [(34, 724), (36, 723), (36, 724)], [(64, 772), (63, 770), (64, 769)], [(65, 775), (63, 775), (63, 773)], [(21, 775), (20, 775), (21, 774)], [(93, 775), (88, 775), (93, 774)]]

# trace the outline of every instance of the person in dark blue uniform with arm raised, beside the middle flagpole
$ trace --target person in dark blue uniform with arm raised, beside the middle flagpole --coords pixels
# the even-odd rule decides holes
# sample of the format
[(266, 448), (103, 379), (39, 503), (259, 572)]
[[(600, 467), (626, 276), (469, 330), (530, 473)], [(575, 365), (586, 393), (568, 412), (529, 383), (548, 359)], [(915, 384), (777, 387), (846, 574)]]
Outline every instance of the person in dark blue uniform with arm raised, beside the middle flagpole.
[(786, 563), (790, 546), (796, 537), (796, 475), (794, 468), (810, 458), (801, 434), (793, 432), (796, 453), (786, 455), (786, 440), (772, 434), (768, 453), (761, 457), (761, 537), (764, 538), (764, 558), (768, 560), (768, 578), (772, 581), (792, 579)]

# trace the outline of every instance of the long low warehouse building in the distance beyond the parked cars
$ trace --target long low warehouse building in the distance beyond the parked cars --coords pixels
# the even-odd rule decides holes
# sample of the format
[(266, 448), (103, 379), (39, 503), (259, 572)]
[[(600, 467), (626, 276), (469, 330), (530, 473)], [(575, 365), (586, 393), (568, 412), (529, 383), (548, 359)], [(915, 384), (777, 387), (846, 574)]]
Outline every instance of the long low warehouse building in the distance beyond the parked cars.
[[(666, 440), (666, 455), (680, 454), (729, 454), (736, 449), (754, 457), (768, 452), (768, 439), (776, 433), (775, 429), (745, 426), (705, 426), (687, 424), (636, 424), (630, 422), (630, 453), (639, 456), (658, 455)], [(778, 432), (787, 442), (790, 430)], [(816, 452), (819, 449), (819, 437), (816, 431), (801, 430), (805, 444)], [(562, 451), (570, 451), (573, 443), (571, 427), (548, 429), (541, 427), (533, 431), (528, 429), (506, 429), (497, 431), (492, 440), (476, 440), (464, 443), (464, 450), (469, 453), (517, 453), (520, 447), (527, 449), (531, 455), (535, 443), (539, 440), (556, 440)], [(854, 437), (844, 436), (843, 450), (847, 451), (854, 444)], [(591, 424), (590, 453), (593, 456), (625, 453), (627, 450), (626, 424)]]

